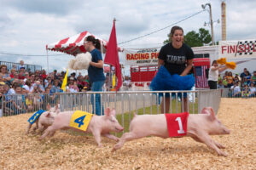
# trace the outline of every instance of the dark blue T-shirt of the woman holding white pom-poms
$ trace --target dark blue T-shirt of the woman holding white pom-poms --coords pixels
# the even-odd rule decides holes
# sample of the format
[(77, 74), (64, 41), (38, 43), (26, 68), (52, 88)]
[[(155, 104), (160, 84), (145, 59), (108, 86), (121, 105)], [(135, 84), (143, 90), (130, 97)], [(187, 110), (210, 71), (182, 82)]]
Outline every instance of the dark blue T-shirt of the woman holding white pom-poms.
[[(102, 54), (98, 49), (93, 49), (90, 51), (91, 54), (91, 61), (92, 62), (98, 62), (99, 60), (102, 60)], [(89, 66), (88, 69), (88, 76), (90, 82), (99, 82), (99, 81), (105, 81), (105, 76), (103, 73), (103, 68), (98, 68), (96, 66)]]

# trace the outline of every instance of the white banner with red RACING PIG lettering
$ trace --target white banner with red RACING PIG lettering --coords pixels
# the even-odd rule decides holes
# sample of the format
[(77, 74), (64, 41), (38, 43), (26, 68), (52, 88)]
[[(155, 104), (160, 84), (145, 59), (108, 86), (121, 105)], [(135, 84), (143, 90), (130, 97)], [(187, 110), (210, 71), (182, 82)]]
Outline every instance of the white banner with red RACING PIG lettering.
[(157, 65), (160, 48), (124, 49), (125, 65)]

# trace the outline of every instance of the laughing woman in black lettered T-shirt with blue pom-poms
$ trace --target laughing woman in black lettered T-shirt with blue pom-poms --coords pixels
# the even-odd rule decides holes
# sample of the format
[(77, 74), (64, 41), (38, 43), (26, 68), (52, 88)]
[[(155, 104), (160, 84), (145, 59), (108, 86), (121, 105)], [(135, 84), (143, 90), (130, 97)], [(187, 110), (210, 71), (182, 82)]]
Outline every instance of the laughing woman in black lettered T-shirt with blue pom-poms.
[[(175, 78), (172, 79), (172, 77), (175, 75), (179, 76), (177, 79), (180, 82), (176, 84), (179, 84), (180, 86), (175, 87), (176, 84), (173, 84), (172, 90), (185, 90), (183, 88), (189, 88), (187, 84), (191, 84), (192, 82), (195, 83), (195, 77), (191, 75), (187, 76), (189, 74), (189, 71), (191, 71), (191, 68), (192, 68), (194, 53), (192, 49), (189, 48), (188, 45), (183, 43), (183, 39), (184, 39), (183, 28), (179, 26), (173, 26), (170, 32), (171, 42), (167, 43), (165, 46), (163, 46), (160, 49), (160, 54), (158, 56), (159, 71), (150, 84), (151, 89), (171, 90), (170, 87), (160, 87), (160, 85), (162, 85), (161, 84), (163, 83), (162, 81), (177, 82)], [(170, 77), (170, 79), (172, 80), (161, 77), (160, 73), (162, 73), (163, 75), (166, 75), (166, 77)], [(183, 80), (186, 80), (186, 82), (183, 82)], [(162, 88), (165, 88), (165, 89), (162, 89)], [(182, 95), (178, 94), (178, 97), (182, 98)], [(166, 108), (164, 108), (164, 102), (166, 103)], [(183, 102), (181, 103), (182, 103), (181, 111), (188, 111), (188, 99), (187, 99), (186, 93), (183, 94)], [(165, 101), (162, 100), (162, 103), (161, 103), (161, 113), (164, 113), (164, 111), (166, 111), (166, 113), (169, 113), (169, 108), (170, 108), (170, 95), (167, 94)]]

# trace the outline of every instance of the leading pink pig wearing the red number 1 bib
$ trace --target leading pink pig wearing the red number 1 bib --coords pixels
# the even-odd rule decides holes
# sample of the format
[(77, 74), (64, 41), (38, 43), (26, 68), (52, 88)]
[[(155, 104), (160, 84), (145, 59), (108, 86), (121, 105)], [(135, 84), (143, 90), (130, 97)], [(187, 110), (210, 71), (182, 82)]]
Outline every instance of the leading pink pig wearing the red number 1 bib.
[[(189, 136), (195, 139), (197, 142), (207, 144), (208, 147), (217, 151), (219, 156), (227, 156), (224, 151), (224, 145), (211, 139), (210, 135), (214, 134), (230, 134), (230, 130), (224, 127), (215, 116), (212, 107), (205, 107), (202, 109), (201, 114), (189, 115), (181, 119), (181, 116), (177, 116), (172, 125), (168, 124), (167, 116), (176, 114), (159, 114), (159, 115), (134, 115), (134, 118), (130, 124), (130, 132), (124, 133), (119, 139), (119, 143), (113, 146), (113, 151), (121, 148), (126, 141), (132, 139), (140, 139), (146, 136), (158, 136), (161, 138), (171, 137), (173, 130), (177, 132), (176, 136), (181, 137)], [(183, 123), (184, 122), (184, 123)]]

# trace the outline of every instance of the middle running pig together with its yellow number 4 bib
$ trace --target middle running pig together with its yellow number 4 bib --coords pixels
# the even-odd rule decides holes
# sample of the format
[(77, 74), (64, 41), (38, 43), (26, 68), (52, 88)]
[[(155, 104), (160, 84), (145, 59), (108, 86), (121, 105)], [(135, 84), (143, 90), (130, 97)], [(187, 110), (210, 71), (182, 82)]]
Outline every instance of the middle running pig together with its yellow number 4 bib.
[[(108, 139), (119, 141), (119, 138), (110, 134), (110, 132), (119, 133), (124, 130), (124, 127), (115, 118), (114, 109), (110, 110), (107, 108), (104, 116), (91, 115), (82, 111), (79, 111), (82, 112), (81, 115), (76, 116), (75, 112), (77, 111), (60, 112), (55, 116), (54, 123), (44, 131), (44, 134), (39, 139), (44, 139), (46, 136), (53, 136), (58, 129), (73, 129), (79, 132), (92, 133), (99, 147), (102, 147), (101, 135)], [(85, 117), (90, 117), (90, 121), (87, 122)], [(84, 127), (85, 125), (86, 127)]]

